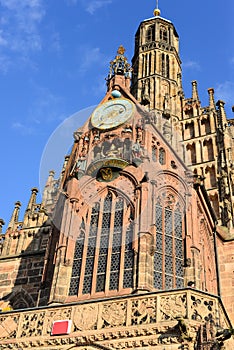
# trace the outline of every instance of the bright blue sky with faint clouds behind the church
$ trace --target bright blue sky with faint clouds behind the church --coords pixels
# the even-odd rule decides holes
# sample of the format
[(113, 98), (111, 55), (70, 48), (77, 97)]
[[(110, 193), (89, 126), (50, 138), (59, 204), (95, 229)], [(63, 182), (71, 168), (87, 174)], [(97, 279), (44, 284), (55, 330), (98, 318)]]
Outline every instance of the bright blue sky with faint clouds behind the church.
[[(135, 31), (152, 17), (155, 2), (0, 0), (0, 217), (6, 223), (15, 201), (25, 208), (30, 189), (56, 167), (53, 161), (58, 158), (56, 170), (62, 165), (58, 142), (52, 166), (48, 157), (40, 167), (48, 140), (67, 120), (59, 141), (66, 138), (69, 148), (71, 130), (90, 109), (77, 112), (104, 96), (109, 61), (120, 44), (131, 61)], [(234, 117), (233, 0), (161, 0), (159, 7), (180, 35), (186, 97), (197, 80), (207, 105), (207, 89), (214, 87)]]

